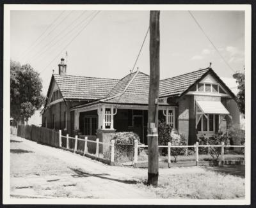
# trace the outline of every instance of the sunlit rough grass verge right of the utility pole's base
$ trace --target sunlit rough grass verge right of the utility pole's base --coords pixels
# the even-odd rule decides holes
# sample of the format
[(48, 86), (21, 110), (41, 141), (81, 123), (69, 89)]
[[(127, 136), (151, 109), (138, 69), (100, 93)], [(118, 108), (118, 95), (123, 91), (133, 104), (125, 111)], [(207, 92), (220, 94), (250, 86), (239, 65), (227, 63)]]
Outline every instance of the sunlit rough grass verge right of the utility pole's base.
[(244, 179), (233, 175), (205, 172), (159, 177), (158, 187), (147, 186), (161, 198), (235, 199), (244, 197)]

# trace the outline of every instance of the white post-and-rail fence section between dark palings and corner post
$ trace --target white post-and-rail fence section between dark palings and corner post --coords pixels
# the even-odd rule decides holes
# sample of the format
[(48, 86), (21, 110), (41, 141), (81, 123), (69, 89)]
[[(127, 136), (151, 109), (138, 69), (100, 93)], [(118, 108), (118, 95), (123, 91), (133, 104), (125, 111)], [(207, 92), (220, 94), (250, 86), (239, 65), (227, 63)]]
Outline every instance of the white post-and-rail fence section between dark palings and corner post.
[[(103, 145), (108, 145), (109, 146), (108, 143), (99, 142), (99, 138), (97, 138), (96, 141), (93, 141), (93, 140), (88, 140), (88, 137), (84, 137), (84, 139), (83, 138), (78, 138), (77, 135), (76, 135), (76, 137), (69, 137), (68, 134), (66, 136), (63, 136), (63, 135), (61, 135), (61, 130), (60, 130), (59, 135), (60, 135), (60, 147), (63, 147), (62, 146), (62, 138), (66, 138), (67, 139), (66, 140), (67, 143), (66, 143), (66, 147), (65, 148), (69, 149), (69, 150), (72, 150), (72, 151), (74, 151), (74, 153), (76, 153), (77, 152), (77, 142), (78, 141), (82, 141), (82, 142), (84, 142), (83, 155), (88, 154), (88, 155), (95, 156), (96, 158), (100, 158), (100, 154), (99, 154), (99, 145), (100, 144), (102, 145), (102, 149), (103, 149)], [(69, 147), (69, 140), (75, 140), (74, 150)], [(90, 154), (88, 152), (88, 143), (90, 143), (90, 142), (96, 144), (95, 154)], [(111, 140), (110, 147), (111, 147), (111, 158), (110, 158), (110, 161), (111, 161), (111, 163), (115, 163), (115, 140)]]

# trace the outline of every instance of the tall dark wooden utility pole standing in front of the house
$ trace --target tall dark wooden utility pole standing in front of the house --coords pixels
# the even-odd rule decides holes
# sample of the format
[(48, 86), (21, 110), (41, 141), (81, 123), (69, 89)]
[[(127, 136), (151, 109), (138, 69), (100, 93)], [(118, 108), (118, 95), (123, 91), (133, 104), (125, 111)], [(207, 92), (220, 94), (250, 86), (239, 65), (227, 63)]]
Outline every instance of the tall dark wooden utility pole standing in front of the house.
[(150, 11), (150, 82), (148, 94), (148, 185), (158, 182), (159, 16)]

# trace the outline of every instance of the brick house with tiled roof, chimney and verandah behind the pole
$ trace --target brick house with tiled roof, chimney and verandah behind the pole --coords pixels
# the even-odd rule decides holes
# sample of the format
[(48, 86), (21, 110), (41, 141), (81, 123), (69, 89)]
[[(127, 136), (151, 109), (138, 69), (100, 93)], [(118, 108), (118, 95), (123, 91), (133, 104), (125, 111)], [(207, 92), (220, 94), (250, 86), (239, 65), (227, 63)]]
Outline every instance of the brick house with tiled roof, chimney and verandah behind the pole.
[[(109, 142), (115, 131), (133, 131), (147, 144), (147, 74), (136, 71), (120, 80), (78, 77), (67, 75), (64, 59), (58, 66), (42, 126), (103, 142)], [(239, 123), (236, 96), (211, 67), (161, 80), (159, 98), (159, 119), (182, 133), (188, 144), (195, 144), (200, 134), (211, 136)]]

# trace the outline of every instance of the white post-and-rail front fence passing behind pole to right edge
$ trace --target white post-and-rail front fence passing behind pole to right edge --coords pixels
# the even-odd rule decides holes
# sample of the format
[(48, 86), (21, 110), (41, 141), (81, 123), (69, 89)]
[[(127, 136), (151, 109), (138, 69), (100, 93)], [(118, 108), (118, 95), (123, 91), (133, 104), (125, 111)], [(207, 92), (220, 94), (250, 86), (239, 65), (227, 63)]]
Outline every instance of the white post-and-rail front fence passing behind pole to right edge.
[[(138, 163), (138, 148), (147, 148), (148, 145), (138, 145), (138, 141), (135, 140), (134, 142), (134, 163)], [(224, 154), (224, 148), (225, 147), (245, 147), (244, 145), (225, 145), (224, 142), (221, 142), (221, 145), (199, 145), (198, 142), (196, 142), (195, 145), (171, 145), (170, 142), (168, 142), (168, 145), (159, 145), (158, 147), (162, 148), (168, 148), (168, 163), (171, 163), (171, 149), (172, 148), (188, 148), (193, 147), (195, 149), (195, 161), (196, 164), (199, 162), (199, 147), (221, 147), (221, 161), (225, 161), (225, 154)]]

